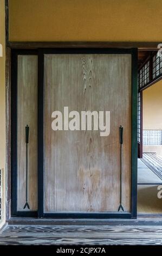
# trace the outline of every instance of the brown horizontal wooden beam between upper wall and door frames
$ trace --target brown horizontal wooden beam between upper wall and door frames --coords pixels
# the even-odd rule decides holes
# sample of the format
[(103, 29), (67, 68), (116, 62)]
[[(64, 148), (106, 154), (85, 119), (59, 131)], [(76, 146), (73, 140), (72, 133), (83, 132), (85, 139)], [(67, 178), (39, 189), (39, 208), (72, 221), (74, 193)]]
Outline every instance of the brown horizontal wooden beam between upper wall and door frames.
[(64, 42), (12, 42), (8, 41), (10, 48), (36, 49), (36, 48), (56, 48), (56, 47), (94, 47), (94, 48), (138, 48), (139, 50), (157, 50), (161, 42), (106, 42), (106, 41), (64, 41)]

